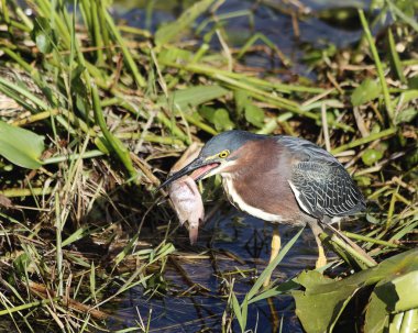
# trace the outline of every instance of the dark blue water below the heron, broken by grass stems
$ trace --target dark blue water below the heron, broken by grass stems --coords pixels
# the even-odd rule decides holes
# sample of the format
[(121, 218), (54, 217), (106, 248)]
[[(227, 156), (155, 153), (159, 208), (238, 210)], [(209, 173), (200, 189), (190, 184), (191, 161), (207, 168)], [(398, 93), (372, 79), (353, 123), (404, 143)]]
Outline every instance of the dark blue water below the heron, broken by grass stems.
[[(288, 242), (297, 231), (282, 226), (282, 244)], [(193, 282), (201, 285), (206, 290), (188, 296), (176, 292), (152, 298), (144, 296), (142, 288), (131, 290), (118, 303), (116, 314), (123, 319), (110, 322), (110, 328), (116, 330), (132, 325), (139, 318), (138, 313), (141, 313), (145, 321), (152, 309), (152, 332), (220, 332), (228, 296), (228, 291), (222, 291), (226, 289), (224, 279), (230, 281), (232, 277), (235, 278), (233, 290), (242, 301), (251, 289), (252, 277), (255, 274), (260, 275), (268, 262), (271, 233), (268, 224), (242, 215), (233, 209), (228, 215), (219, 214), (208, 222), (200, 231), (199, 242), (194, 247), (187, 245), (186, 232), (179, 231), (175, 245), (182, 255), (208, 255), (208, 258), (177, 260)], [(226, 253), (235, 255), (239, 260)], [(274, 271), (273, 279), (287, 280), (305, 268), (312, 268), (316, 258), (316, 243), (307, 229)], [(249, 277), (243, 278), (239, 274), (228, 276), (228, 273), (237, 269), (244, 271)], [(221, 276), (224, 276), (224, 279)], [(165, 279), (172, 284), (174, 290), (186, 291), (189, 288), (178, 270), (169, 264)], [(273, 307), (271, 309), (267, 301), (250, 306), (248, 329), (254, 332), (255, 329), (256, 332), (271, 332), (274, 324), (279, 325), (279, 321), (283, 321), (283, 332), (302, 332), (294, 313), (292, 297), (275, 298)], [(239, 326), (234, 326), (233, 331), (239, 331)]]

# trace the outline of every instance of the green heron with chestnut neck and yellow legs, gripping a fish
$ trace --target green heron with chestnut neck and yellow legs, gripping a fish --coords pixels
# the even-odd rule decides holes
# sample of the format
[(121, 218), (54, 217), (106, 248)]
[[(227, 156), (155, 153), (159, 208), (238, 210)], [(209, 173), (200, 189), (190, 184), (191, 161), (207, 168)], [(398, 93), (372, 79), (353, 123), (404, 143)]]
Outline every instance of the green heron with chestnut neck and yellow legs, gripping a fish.
[(233, 206), (274, 223), (271, 262), (280, 247), (277, 223), (308, 224), (319, 251), (316, 266), (321, 267), (327, 263), (319, 240), (321, 224), (365, 209), (361, 191), (338, 159), (299, 137), (223, 132), (161, 187), (189, 174), (195, 181), (221, 175)]

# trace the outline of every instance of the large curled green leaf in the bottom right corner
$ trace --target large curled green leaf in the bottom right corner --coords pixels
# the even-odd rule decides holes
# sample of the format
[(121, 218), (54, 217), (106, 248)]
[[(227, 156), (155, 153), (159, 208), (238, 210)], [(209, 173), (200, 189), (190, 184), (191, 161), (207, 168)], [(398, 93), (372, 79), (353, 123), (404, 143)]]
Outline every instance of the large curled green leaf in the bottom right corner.
[[(418, 310), (418, 298), (411, 292), (418, 287), (418, 249), (393, 256), (342, 280), (311, 270), (301, 273), (295, 281), (305, 288), (292, 295), (296, 314), (308, 333), (332, 332), (353, 296), (374, 285), (366, 311), (366, 332), (384, 332), (394, 314)], [(418, 329), (418, 322), (415, 328)]]

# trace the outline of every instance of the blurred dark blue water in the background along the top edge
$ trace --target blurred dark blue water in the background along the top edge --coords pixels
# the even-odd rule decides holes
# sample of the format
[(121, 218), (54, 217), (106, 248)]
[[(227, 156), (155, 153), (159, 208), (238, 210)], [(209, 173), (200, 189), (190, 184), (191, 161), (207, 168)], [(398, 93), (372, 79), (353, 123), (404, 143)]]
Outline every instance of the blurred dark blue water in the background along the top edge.
[[(134, 7), (134, 3), (136, 2), (138, 7)], [(155, 31), (162, 22), (170, 22), (175, 20), (183, 10), (194, 1), (154, 1), (155, 4), (152, 11), (144, 10), (145, 2), (150, 3), (150, 1), (117, 1), (114, 15), (129, 22), (130, 25)], [(336, 26), (330, 20), (319, 19), (319, 13), (323, 10), (332, 10), (341, 7), (363, 8), (367, 5), (370, 1), (295, 1), (300, 2), (311, 13), (306, 16), (306, 19), (298, 21), (298, 36), (295, 35), (290, 15), (284, 14), (280, 10), (277, 10), (277, 7), (289, 8), (288, 4), (285, 4), (289, 2), (292, 1), (226, 0), (226, 2), (219, 8), (217, 12), (218, 14), (246, 10), (252, 12), (252, 18), (254, 19), (253, 24), (249, 14), (222, 21), (226, 24), (224, 26), (228, 34), (227, 43), (229, 46), (240, 47), (244, 45), (249, 37), (260, 32), (273, 42), (292, 62), (292, 66), (286, 70), (283, 70), (283, 66), (277, 58), (272, 59), (272, 57), (266, 55), (263, 56), (262, 54), (249, 54), (243, 59), (244, 64), (265, 69), (283, 70), (283, 73), (288, 75), (297, 74), (314, 78), (309, 73), (309, 67), (301, 62), (301, 58), (305, 55), (302, 46), (312, 45), (318, 48), (327, 48), (330, 45), (336, 45), (337, 47), (346, 47), (351, 43), (358, 41), (362, 33), (362, 30), (358, 24), (348, 22), (344, 26)], [(127, 7), (130, 9), (128, 10)], [(207, 18), (199, 18), (197, 22), (201, 23), (205, 19)], [(209, 24), (208, 26), (211, 25), (212, 24)], [(217, 38), (212, 38), (211, 44), (212, 47), (221, 48)], [(261, 41), (257, 41), (255, 44), (265, 45)]]

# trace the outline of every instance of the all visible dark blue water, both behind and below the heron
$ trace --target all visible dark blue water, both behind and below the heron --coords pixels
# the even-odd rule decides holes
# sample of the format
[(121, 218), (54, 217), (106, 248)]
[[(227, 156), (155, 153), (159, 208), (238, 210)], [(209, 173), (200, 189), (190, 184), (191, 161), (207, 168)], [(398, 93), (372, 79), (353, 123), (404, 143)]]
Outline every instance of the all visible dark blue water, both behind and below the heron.
[[(182, 12), (182, 1), (156, 1), (154, 10), (146, 14), (144, 1), (132, 8), (131, 2), (119, 1), (116, 4), (114, 15), (129, 22), (130, 25), (146, 27), (155, 31), (161, 22), (172, 21)], [(185, 7), (187, 7), (187, 1)], [(275, 1), (275, 3), (280, 3)], [(311, 5), (312, 10), (321, 10), (334, 5), (332, 1), (301, 1)], [(344, 1), (344, 5), (364, 5), (366, 1)], [(142, 4), (142, 7), (141, 7)], [(218, 13), (228, 13), (237, 10), (250, 10), (253, 1), (227, 0)], [(201, 19), (202, 20), (202, 19)], [(200, 21), (201, 22), (201, 21)], [(304, 52), (301, 45), (310, 44), (316, 47), (328, 47), (334, 44), (345, 47), (356, 41), (361, 31), (336, 27), (318, 18), (311, 16), (299, 21), (300, 36), (296, 37), (290, 16), (274, 9), (274, 5), (258, 4), (254, 10), (254, 26), (248, 16), (235, 18), (227, 24), (229, 42), (241, 46), (254, 32), (262, 32), (280, 51), (289, 57), (294, 65), (289, 69), (294, 74), (310, 76), (308, 66), (301, 62)], [(216, 41), (212, 42), (216, 44)], [(213, 45), (217, 47), (217, 45)], [(278, 62), (262, 55), (248, 56), (248, 65), (266, 69), (279, 68)], [(286, 243), (297, 230), (282, 226), (282, 244)], [(176, 248), (184, 257), (206, 254), (206, 258), (178, 258), (177, 266), (184, 269), (194, 284), (201, 285), (200, 291), (187, 291), (189, 284), (179, 274), (178, 268), (167, 264), (164, 279), (169, 284), (170, 292), (162, 295), (144, 295), (142, 288), (124, 293), (118, 303), (112, 304), (112, 312), (118, 317), (109, 322), (111, 330), (122, 330), (141, 322), (146, 325), (150, 320), (151, 332), (221, 332), (222, 315), (227, 307), (228, 290), (226, 280), (231, 282), (235, 278), (234, 292), (239, 300), (251, 289), (253, 277), (260, 275), (265, 267), (270, 255), (272, 229), (263, 221), (244, 217), (231, 209), (227, 214), (218, 214), (204, 230), (200, 231), (199, 242), (195, 247), (188, 246), (186, 233), (179, 231)], [(234, 259), (231, 255), (239, 259)], [(292, 278), (305, 268), (312, 268), (317, 258), (315, 240), (309, 229), (305, 230), (297, 244), (290, 249), (285, 259), (274, 273), (274, 278), (282, 281)], [(240, 274), (226, 273), (241, 269)], [(223, 277), (222, 277), (223, 276)], [(174, 292), (174, 291), (176, 292)], [(261, 301), (250, 306), (248, 330), (252, 332), (302, 332), (294, 312), (294, 302), (289, 296), (273, 299), (273, 306)], [(116, 307), (116, 310), (114, 310)], [(151, 311), (151, 312), (150, 312)], [(237, 323), (234, 332), (240, 329)]]

